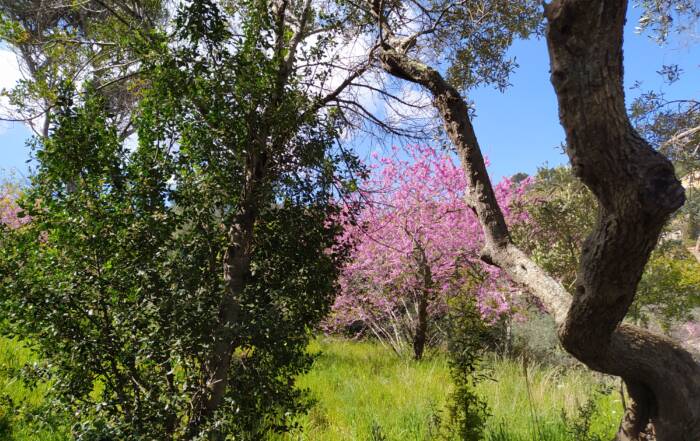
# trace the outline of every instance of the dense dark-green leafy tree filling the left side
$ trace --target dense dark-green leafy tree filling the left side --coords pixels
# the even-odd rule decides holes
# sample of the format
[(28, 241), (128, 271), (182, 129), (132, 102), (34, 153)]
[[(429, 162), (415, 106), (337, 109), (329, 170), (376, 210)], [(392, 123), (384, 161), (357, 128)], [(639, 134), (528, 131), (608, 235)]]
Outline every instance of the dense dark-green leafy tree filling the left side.
[(294, 378), (336, 290), (332, 199), (354, 160), (281, 77), (274, 11), (237, 12), (243, 35), (195, 2), (177, 12), (177, 45), (129, 42), (149, 84), (129, 115), (135, 147), (99, 78), (64, 78), (34, 141), (18, 201), (31, 222), (2, 239), (2, 320), (36, 345), (77, 439), (257, 440), (308, 405)]

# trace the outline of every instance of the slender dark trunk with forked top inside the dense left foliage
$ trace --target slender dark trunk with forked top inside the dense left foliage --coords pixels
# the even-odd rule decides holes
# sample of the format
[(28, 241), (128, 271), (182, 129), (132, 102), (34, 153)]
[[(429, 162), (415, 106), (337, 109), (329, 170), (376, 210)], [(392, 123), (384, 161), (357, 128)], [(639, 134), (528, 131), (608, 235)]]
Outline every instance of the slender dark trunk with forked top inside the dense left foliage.
[[(242, 194), (240, 213), (229, 231), (229, 243), (224, 255), (225, 295), (219, 304), (218, 321), (214, 328), (214, 343), (209, 358), (202, 366), (203, 378), (206, 381), (204, 393), (192, 400), (191, 418), (188, 423), (188, 437), (196, 436), (201, 425), (219, 408), (224, 399), (228, 386), (228, 371), (233, 353), (238, 347), (235, 326), (240, 320), (241, 296), (246, 288), (246, 279), (250, 273), (251, 248), (253, 244), (253, 228), (258, 217), (260, 198), (269, 189), (266, 180), (270, 178), (271, 166), (269, 159), (274, 152), (279, 152), (296, 134), (300, 118), (296, 124), (287, 122), (282, 130), (277, 127), (274, 116), (282, 103), (285, 87), (296, 61), (296, 48), (306, 38), (309, 24), (311, 0), (305, 0), (303, 12), (297, 23), (297, 32), (289, 38), (287, 26), (287, 9), (289, 2), (281, 1), (275, 7), (276, 42), (275, 53), (279, 61), (274, 89), (271, 91), (270, 102), (262, 114), (254, 115), (248, 126), (251, 135), (249, 156), (246, 160), (246, 178)], [(288, 52), (285, 56), (284, 52)], [(349, 83), (348, 83), (349, 84)], [(334, 92), (340, 93), (348, 84), (342, 85)], [(330, 99), (330, 96), (327, 97)], [(312, 113), (318, 111), (326, 100), (321, 100), (307, 109)], [(284, 125), (283, 125), (284, 126)], [(268, 201), (269, 202), (269, 201)]]

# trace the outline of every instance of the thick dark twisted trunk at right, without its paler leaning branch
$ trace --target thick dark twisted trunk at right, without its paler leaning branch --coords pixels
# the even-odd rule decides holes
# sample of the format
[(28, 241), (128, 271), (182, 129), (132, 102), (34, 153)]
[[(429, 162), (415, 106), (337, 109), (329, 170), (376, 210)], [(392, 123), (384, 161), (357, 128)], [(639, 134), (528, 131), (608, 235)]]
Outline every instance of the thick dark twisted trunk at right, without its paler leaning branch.
[(623, 0), (567, 0), (546, 8), (567, 153), (574, 173), (599, 201), (560, 338), (586, 365), (625, 380), (632, 403), (619, 439), (697, 441), (700, 366), (670, 340), (620, 325), (664, 223), (685, 201), (670, 161), (627, 118), (626, 10)]

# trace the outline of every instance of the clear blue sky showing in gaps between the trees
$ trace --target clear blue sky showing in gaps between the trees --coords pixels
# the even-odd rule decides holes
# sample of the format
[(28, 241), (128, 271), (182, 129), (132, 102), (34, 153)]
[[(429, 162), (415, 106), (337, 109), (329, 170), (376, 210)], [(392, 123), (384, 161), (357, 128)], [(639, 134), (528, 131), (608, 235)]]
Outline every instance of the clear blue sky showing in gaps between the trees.
[[(689, 37), (672, 39), (660, 47), (649, 37), (634, 33), (639, 12), (631, 8), (625, 31), (625, 89), (628, 103), (640, 91), (665, 90), (669, 96), (700, 97), (700, 44)], [(484, 154), (491, 162), (491, 176), (524, 171), (534, 173), (539, 166), (561, 164), (567, 158), (559, 145), (564, 132), (559, 125), (554, 91), (549, 82), (549, 60), (543, 39), (516, 42), (510, 50), (519, 68), (511, 77), (512, 86), (503, 93), (481, 88), (471, 93), (476, 106), (474, 126)], [(656, 72), (663, 64), (678, 64), (681, 80), (665, 85)], [(2, 76), (9, 73), (2, 66)], [(641, 89), (632, 90), (635, 81)], [(16, 169), (26, 175), (30, 157), (25, 145), (29, 130), (20, 123), (0, 127), (0, 169)]]

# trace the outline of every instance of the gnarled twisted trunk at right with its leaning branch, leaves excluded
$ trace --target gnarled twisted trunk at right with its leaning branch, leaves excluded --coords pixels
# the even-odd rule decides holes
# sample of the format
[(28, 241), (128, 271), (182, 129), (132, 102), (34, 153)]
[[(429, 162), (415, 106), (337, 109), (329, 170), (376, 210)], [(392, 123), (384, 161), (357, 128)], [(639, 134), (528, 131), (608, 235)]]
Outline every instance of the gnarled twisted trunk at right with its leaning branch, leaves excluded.
[(684, 195), (673, 167), (632, 128), (622, 89), (626, 2), (563, 1), (547, 7), (552, 82), (569, 156), (596, 195), (598, 223), (584, 245), (573, 298), (512, 244), (467, 106), (438, 71), (385, 43), (390, 74), (423, 86), (454, 144), (467, 198), (484, 230), (483, 258), (527, 286), (559, 325), (564, 348), (587, 366), (622, 377), (630, 402), (621, 441), (700, 440), (700, 365), (670, 339), (621, 324), (649, 253)]

